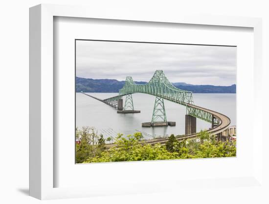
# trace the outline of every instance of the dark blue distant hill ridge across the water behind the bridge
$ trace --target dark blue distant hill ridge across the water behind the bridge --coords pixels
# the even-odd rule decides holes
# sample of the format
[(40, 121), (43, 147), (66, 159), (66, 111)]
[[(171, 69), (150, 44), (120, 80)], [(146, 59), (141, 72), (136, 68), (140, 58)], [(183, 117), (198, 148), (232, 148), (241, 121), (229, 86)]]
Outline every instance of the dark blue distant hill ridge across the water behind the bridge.
[[(145, 84), (145, 81), (135, 81), (136, 84)], [(99, 92), (117, 93), (125, 84), (125, 81), (116, 79), (92, 79), (76, 77), (76, 92)], [(213, 86), (213, 85), (193, 85), (184, 82), (173, 83), (179, 89), (191, 91), (193, 93), (236, 93), (236, 85)]]

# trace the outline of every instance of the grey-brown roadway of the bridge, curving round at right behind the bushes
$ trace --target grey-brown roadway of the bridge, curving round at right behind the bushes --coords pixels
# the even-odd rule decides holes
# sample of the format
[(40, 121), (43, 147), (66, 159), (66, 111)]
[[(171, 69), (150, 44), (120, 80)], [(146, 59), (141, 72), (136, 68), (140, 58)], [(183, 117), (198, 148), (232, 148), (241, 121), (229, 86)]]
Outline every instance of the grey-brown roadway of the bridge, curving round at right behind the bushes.
[[(83, 93), (83, 92), (82, 92)], [(96, 97), (93, 97), (89, 94), (86, 94), (86, 93), (83, 93), (91, 98), (94, 98), (98, 101), (101, 101), (101, 102), (104, 102), (106, 104), (108, 104), (106, 101), (108, 99), (105, 99), (105, 100), (102, 100), (102, 99), (98, 99)], [(116, 96), (116, 97), (111, 97), (109, 99), (112, 99), (112, 98), (118, 98), (118, 97), (121, 97), (121, 96)], [(169, 99), (167, 99), (169, 100)], [(172, 101), (172, 100), (169, 100), (169, 101)], [(182, 104), (182, 103), (180, 103)], [(109, 104), (108, 104), (109, 105)], [(215, 126), (214, 128), (210, 128), (207, 130), (207, 132), (209, 132), (210, 134), (221, 134), (224, 130), (226, 130), (228, 128), (228, 126), (230, 125), (231, 121), (230, 119), (225, 116), (224, 114), (222, 113), (219, 113), (219, 112), (216, 112), (214, 110), (209, 110), (209, 109), (206, 109), (206, 108), (203, 108), (203, 107), (200, 107), (200, 106), (197, 106), (197, 105), (193, 105), (193, 104), (190, 104), (190, 103), (185, 103), (185, 104), (182, 104), (182, 105), (187, 105), (187, 106), (190, 106), (190, 107), (193, 107), (193, 108), (196, 108), (196, 109), (199, 109), (199, 110), (202, 110), (204, 112), (207, 112), (207, 113), (210, 113), (212, 114), (215, 118), (218, 119), (218, 121), (220, 122), (217, 126)], [(192, 139), (192, 138), (196, 138), (197, 137), (197, 132), (196, 133), (193, 133), (193, 134), (188, 134), (188, 135), (183, 135), (183, 136), (177, 136), (176, 139), (178, 141), (182, 141), (184, 139)], [(143, 142), (146, 142), (147, 144), (165, 144), (166, 142), (168, 141), (168, 138), (155, 138), (155, 139), (149, 139), (149, 140), (144, 140)], [(106, 147), (109, 149), (109, 148), (112, 148), (114, 147), (115, 145), (114, 144), (107, 144)]]

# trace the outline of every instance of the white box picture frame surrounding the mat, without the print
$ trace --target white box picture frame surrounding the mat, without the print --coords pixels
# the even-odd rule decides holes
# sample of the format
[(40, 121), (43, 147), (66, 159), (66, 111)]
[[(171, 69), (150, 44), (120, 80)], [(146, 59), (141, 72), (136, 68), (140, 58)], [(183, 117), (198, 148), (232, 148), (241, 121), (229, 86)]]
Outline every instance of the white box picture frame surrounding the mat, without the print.
[[(246, 178), (222, 178), (205, 179), (204, 184), (210, 187), (214, 182), (221, 182), (228, 186), (229, 183), (246, 182), (250, 186), (263, 187), (262, 178), (262, 128), (257, 119), (262, 118), (262, 106), (257, 105), (261, 101), (262, 83), (262, 21), (259, 18), (227, 17), (227, 16), (151, 16), (126, 10), (96, 11), (92, 7), (63, 6), (41, 4), (30, 8), (30, 196), (38, 199), (77, 198), (96, 195), (116, 195), (128, 193), (163, 192), (172, 190), (167, 187), (154, 187), (155, 183), (133, 183), (133, 188), (121, 188), (111, 191), (100, 186), (55, 188), (53, 178), (53, 17), (77, 17), (114, 19), (146, 22), (163, 22), (175, 24), (196, 24), (211, 26), (239, 26), (253, 28), (254, 32), (254, 96), (255, 107), (253, 124), (257, 129), (256, 138), (259, 142), (253, 143), (254, 169), (253, 174)], [(256, 121), (255, 121), (256, 119)], [(251, 134), (251, 133), (249, 133)], [(163, 186), (173, 185), (182, 188), (186, 182), (166, 182)], [(181, 186), (181, 187), (180, 187)], [(233, 186), (233, 185), (232, 185)], [(150, 188), (153, 187), (153, 188)], [(136, 190), (134, 190), (136, 189)], [(174, 189), (174, 190), (175, 190)]]

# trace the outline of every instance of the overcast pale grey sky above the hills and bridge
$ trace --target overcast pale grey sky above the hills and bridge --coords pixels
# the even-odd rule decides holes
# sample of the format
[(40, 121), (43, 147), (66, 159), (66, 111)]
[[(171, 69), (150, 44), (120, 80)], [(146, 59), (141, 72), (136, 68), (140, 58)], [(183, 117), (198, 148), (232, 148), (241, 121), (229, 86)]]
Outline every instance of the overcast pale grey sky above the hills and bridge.
[(236, 83), (236, 48), (197, 45), (76, 41), (76, 76), (149, 81), (163, 70), (171, 82)]

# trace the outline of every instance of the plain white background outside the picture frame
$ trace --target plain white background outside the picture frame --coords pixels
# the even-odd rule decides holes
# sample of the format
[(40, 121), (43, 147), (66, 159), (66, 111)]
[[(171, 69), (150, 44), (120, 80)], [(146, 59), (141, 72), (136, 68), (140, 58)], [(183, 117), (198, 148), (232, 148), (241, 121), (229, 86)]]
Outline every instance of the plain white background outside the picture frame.
[[(81, 4), (96, 6), (131, 7), (148, 12), (158, 10), (164, 12), (190, 12), (209, 13), (216, 15), (263, 17), (263, 51), (264, 67), (269, 67), (269, 14), (266, 0), (193, 0), (193, 1), (157, 1), (135, 0), (128, 1), (102, 1), (89, 0), (24, 0), (5, 1), (0, 5), (1, 21), (1, 100), (0, 124), (2, 144), (0, 148), (0, 201), (1, 203), (39, 203), (40, 201), (28, 197), (28, 8), (39, 3)], [(268, 69), (264, 69), (264, 85), (268, 86)], [(264, 89), (264, 94), (268, 89)], [(266, 104), (266, 98), (264, 98)], [(268, 108), (265, 115), (268, 115)], [(266, 138), (264, 144), (269, 144)], [(266, 147), (264, 145), (264, 147)], [(266, 170), (268, 170), (268, 149), (264, 148), (267, 155)], [(267, 171), (268, 172), (268, 171)], [(264, 178), (268, 176), (264, 174)], [(144, 195), (126, 195), (102, 198), (87, 198), (78, 200), (45, 201), (47, 203), (192, 203), (194, 199), (204, 203), (268, 203), (266, 192), (255, 189), (238, 188), (230, 191), (229, 188), (212, 189), (212, 192), (201, 192), (199, 195), (189, 193), (181, 195), (180, 192), (169, 192)], [(244, 196), (237, 196), (244, 195)], [(268, 199), (268, 198), (267, 198)], [(195, 202), (197, 203), (197, 201)]]

